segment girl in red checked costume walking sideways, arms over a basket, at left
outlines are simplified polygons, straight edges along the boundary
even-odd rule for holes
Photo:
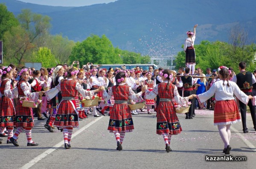
[[[36,102],[38,101],[39,96],[42,96],[44,92],[40,91],[36,93],[31,93],[30,85],[27,82],[29,77],[29,72],[27,68],[20,70],[20,77],[21,78],[17,84],[18,103],[16,107],[16,116],[15,116],[17,130],[13,135],[13,137],[10,138],[10,141],[15,146],[19,146],[19,144],[17,143],[18,136],[23,130],[25,130],[27,141],[28,141],[27,146],[38,146],[38,144],[32,141],[32,138],[31,138],[31,129],[34,127],[34,117],[32,113],[32,108],[23,107],[22,101],[20,100],[20,98],[25,98],[26,100]]]

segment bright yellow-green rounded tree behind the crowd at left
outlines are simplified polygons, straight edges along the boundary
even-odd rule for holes
[[[57,64],[51,50],[46,47],[40,47],[33,55],[33,62],[41,62],[44,68],[52,68]]]

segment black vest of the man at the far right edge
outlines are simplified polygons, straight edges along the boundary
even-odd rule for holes
[[[253,78],[251,72],[240,72],[236,75],[236,79],[236,84],[241,90],[253,88]]]

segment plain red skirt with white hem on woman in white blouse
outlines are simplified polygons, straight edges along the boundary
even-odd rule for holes
[[[214,108],[214,125],[235,124],[241,121],[235,100],[217,101]]]

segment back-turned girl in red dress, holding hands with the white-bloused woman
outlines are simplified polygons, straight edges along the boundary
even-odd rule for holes
[[[177,103],[183,105],[183,102],[188,101],[189,97],[183,98],[179,95],[177,87],[171,83],[173,77],[170,70],[165,69],[162,73],[163,82],[157,84],[153,91],[149,91],[148,86],[145,85],[145,98],[154,99],[157,95],[160,97],[157,106],[157,134],[163,135],[166,152],[170,152],[172,151],[170,148],[171,136],[182,131],[172,100],[175,99]]]

